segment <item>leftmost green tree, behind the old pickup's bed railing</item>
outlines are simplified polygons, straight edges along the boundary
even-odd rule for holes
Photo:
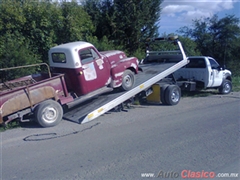
[[[26,23],[22,3],[10,0],[0,3],[0,68],[38,63],[38,55],[31,51],[28,39],[22,36],[22,27]],[[1,79],[9,80],[28,72],[33,72],[33,69],[4,71]]]

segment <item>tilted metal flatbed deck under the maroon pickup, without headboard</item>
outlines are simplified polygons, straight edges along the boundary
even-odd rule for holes
[[[84,105],[81,104],[81,106],[75,107],[74,109],[66,112],[63,118],[79,124],[94,120],[100,115],[110,111],[114,107],[132,98],[141,91],[148,89],[153,84],[185,66],[188,61],[186,56],[183,57],[184,59],[178,63],[140,65],[143,72],[139,72],[139,74],[136,75],[135,86],[131,90],[101,95],[91,101],[88,101]]]

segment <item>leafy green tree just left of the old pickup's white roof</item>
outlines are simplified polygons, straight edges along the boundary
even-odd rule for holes
[[[28,39],[30,48],[47,62],[47,52],[55,43],[57,18],[61,20],[61,14],[56,3],[48,1],[22,1],[22,10],[26,22],[21,28],[21,34]]]

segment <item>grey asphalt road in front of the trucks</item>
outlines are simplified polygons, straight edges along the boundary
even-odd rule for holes
[[[0,134],[0,179],[240,179],[239,135],[240,93],[137,106],[83,125],[27,124]]]

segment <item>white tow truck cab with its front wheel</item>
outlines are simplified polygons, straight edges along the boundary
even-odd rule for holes
[[[232,73],[221,68],[215,59],[207,56],[190,56],[188,60],[189,63],[185,67],[174,72],[177,81],[195,82],[197,89],[217,88],[221,94],[231,92]]]

